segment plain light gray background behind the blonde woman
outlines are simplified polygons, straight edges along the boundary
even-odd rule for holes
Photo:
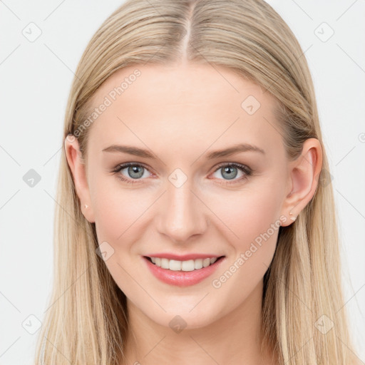
[[[43,320],[53,275],[66,100],[89,39],[122,2],[0,1],[0,365],[32,364],[38,331],[29,331],[36,318]],[[314,78],[340,221],[346,307],[365,364],[365,1],[268,2],[294,31]],[[24,34],[36,35],[36,27],[41,35],[29,41]],[[30,169],[41,177],[34,187],[23,180]]]

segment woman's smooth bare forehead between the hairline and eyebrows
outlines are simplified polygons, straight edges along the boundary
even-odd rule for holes
[[[227,143],[283,148],[274,98],[220,66],[128,66],[113,73],[91,103],[107,105],[90,135],[100,150],[119,142],[145,148],[143,139],[176,151],[187,143],[198,150]]]

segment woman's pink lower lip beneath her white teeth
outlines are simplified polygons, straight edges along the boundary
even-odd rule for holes
[[[202,282],[202,280],[209,277],[218,267],[220,267],[220,264],[225,261],[225,257],[221,257],[220,259],[217,259],[214,264],[210,264],[207,267],[202,267],[202,269],[192,271],[173,271],[170,269],[158,267],[157,265],[153,264],[153,262],[150,262],[150,260],[146,257],[142,258],[147,264],[148,269],[150,269],[150,272],[152,272],[155,277],[160,279],[161,282],[175,285],[177,287],[189,287],[190,285]]]

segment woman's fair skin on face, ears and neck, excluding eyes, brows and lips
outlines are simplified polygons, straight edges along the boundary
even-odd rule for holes
[[[93,106],[135,68],[110,76]],[[259,329],[263,277],[279,230],[219,288],[212,281],[237,267],[240,254],[280,216],[282,226],[293,224],[289,212],[297,216],[312,199],[322,168],[319,140],[307,140],[302,155],[288,161],[274,128],[274,98],[226,68],[184,63],[138,69],[141,76],[89,127],[86,165],[78,140],[65,140],[83,215],[96,223],[99,244],[113,247],[105,263],[128,298],[125,364],[277,364],[272,349],[260,356]],[[252,115],[241,107],[247,96],[261,104]],[[265,154],[205,158],[236,143],[257,145]],[[113,144],[148,149],[157,159],[102,152]],[[146,167],[133,185],[118,179],[133,180],[128,168],[111,173],[128,162]],[[233,168],[230,180],[222,163],[254,172],[240,180],[245,173]],[[177,168],[187,177],[181,187],[168,180]],[[150,274],[142,256],[152,252],[225,255],[225,262],[199,284],[175,287]],[[176,315],[186,322],[180,333],[169,326]]]

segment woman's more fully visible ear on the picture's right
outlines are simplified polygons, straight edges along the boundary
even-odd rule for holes
[[[297,217],[312,200],[322,170],[322,146],[317,138],[309,138],[303,144],[297,160],[289,163],[289,194],[284,200],[283,215],[287,217],[282,226],[291,225],[291,217]],[[292,212],[292,215],[289,213]]]

